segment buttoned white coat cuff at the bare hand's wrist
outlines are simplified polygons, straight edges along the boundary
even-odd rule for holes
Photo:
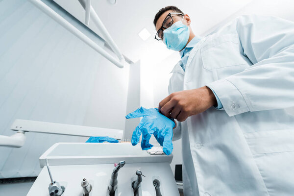
[[[206,86],[218,95],[225,112],[229,116],[250,111],[242,93],[228,80],[220,79]]]

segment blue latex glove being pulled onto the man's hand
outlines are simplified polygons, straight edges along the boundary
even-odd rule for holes
[[[150,149],[153,145],[149,144],[149,140],[153,134],[157,142],[163,147],[164,153],[170,155],[172,153],[172,128],[175,125],[173,120],[159,113],[157,108],[146,109],[141,107],[125,116],[127,119],[139,117],[143,117],[143,119],[133,132],[132,145],[138,144],[142,134],[142,149]]]

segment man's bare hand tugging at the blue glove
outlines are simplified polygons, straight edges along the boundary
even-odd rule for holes
[[[158,110],[168,118],[185,121],[217,104],[213,92],[206,86],[172,93],[160,101]]]

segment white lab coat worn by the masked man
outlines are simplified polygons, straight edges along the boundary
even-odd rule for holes
[[[212,88],[222,110],[177,122],[185,196],[294,196],[294,23],[242,16],[203,38],[169,93]]]

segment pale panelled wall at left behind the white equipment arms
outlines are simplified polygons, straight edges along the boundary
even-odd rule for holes
[[[53,5],[50,0],[44,0]],[[103,42],[62,9],[64,18]],[[0,0],[0,134],[15,119],[124,129],[129,66],[102,58],[27,0]],[[25,146],[0,147],[0,178],[37,176],[56,142],[85,137],[26,133]]]

